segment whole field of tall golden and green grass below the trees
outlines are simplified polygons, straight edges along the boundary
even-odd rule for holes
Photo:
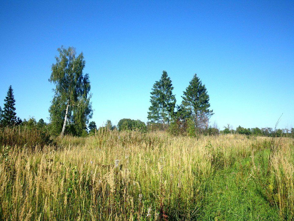
[[[0,220],[293,220],[294,139],[269,161],[270,145],[104,131],[2,146]]]

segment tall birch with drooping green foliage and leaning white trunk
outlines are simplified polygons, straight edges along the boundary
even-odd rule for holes
[[[49,81],[55,84],[55,95],[49,108],[52,130],[61,135],[67,132],[81,135],[86,123],[92,117],[89,75],[83,74],[85,60],[83,53],[76,57],[75,48],[58,48],[59,57],[52,64]]]

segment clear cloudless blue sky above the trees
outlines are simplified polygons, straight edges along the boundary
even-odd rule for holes
[[[2,1],[0,105],[9,85],[17,115],[47,120],[56,49],[83,52],[92,120],[147,122],[166,70],[177,104],[194,73],[222,129],[294,127],[294,1]]]

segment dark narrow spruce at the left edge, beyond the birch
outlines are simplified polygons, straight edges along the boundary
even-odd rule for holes
[[[13,126],[18,123],[18,119],[15,113],[15,100],[13,95],[13,89],[11,85],[8,88],[7,95],[4,99],[4,108],[2,112],[2,126]]]

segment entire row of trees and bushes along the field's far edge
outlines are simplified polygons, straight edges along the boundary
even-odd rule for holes
[[[96,130],[167,130],[174,135],[197,134],[245,134],[256,136],[293,136],[294,129],[251,128],[241,126],[233,130],[230,125],[224,130],[219,130],[216,125],[209,124],[209,118],[213,115],[210,109],[209,95],[205,84],[197,74],[189,82],[183,91],[182,101],[176,106],[174,87],[168,73],[162,72],[158,81],[155,81],[150,92],[150,107],[147,125],[141,120],[123,118],[117,126],[107,120],[105,126],[97,129],[92,118],[93,110],[90,101],[92,94],[89,75],[84,74],[85,59],[83,53],[77,55],[75,48],[58,48],[59,55],[55,57],[55,64],[51,66],[51,75],[48,79],[55,85],[54,96],[49,107],[49,124],[43,119],[29,118],[23,121],[17,117],[13,89],[10,85],[4,99],[3,110],[0,107],[0,126],[27,126],[47,130],[53,136],[88,136],[96,134]]]

